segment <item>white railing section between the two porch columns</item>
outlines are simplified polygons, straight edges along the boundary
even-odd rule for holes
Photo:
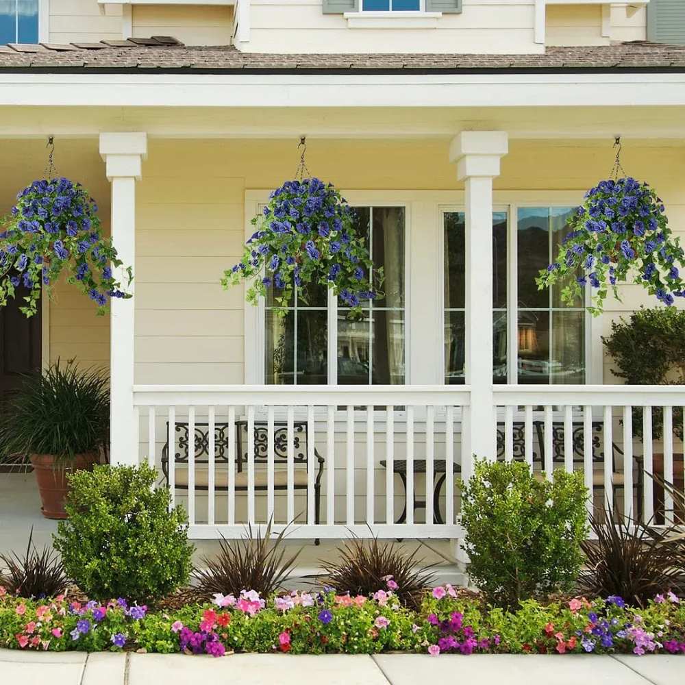
[[[166,464],[194,538],[238,537],[271,519],[300,538],[460,538],[469,396],[444,386],[136,386],[134,406],[140,456]]]

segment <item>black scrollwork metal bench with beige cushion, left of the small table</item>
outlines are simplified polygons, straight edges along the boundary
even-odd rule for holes
[[[243,465],[247,462],[247,421],[236,421],[236,475],[235,490],[247,491],[247,471],[243,471]],[[295,470],[293,475],[293,488],[295,490],[307,490],[308,482],[308,459],[307,459],[307,423],[295,421],[293,424],[293,462]],[[175,423],[177,434],[176,445],[178,451],[174,455],[174,487],[179,490],[188,489],[188,423],[177,421]],[[254,422],[254,463],[266,464],[268,462],[267,438],[268,427],[266,421]],[[169,423],[166,424],[166,443],[162,447],[162,473],[167,486],[169,485]],[[285,422],[274,423],[273,433],[273,457],[274,464],[288,463],[288,427]],[[215,466],[227,466],[228,446],[231,436],[228,434],[228,423],[214,424],[214,464]],[[209,463],[209,424],[195,424],[195,489],[208,490]],[[314,523],[319,523],[321,512],[321,476],[323,475],[323,457],[314,449],[314,457],[318,464],[318,471],[314,479]],[[316,468],[314,464],[314,468]],[[297,468],[297,466],[300,468]],[[199,469],[197,467],[200,467]],[[304,468],[301,468],[301,467]],[[255,469],[254,489],[268,490],[267,475],[265,469]],[[274,490],[288,489],[288,474],[284,469],[276,469],[273,479]],[[214,490],[227,492],[229,478],[227,468],[215,468]]]

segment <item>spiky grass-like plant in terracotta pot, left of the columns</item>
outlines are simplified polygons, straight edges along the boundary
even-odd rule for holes
[[[0,460],[30,462],[47,519],[65,519],[67,475],[92,469],[108,443],[110,399],[97,369],[60,362],[26,375],[0,414]]]

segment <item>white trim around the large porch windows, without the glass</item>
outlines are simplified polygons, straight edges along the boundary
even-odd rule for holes
[[[258,213],[260,203],[269,199],[269,190],[245,191],[245,236],[254,232],[251,219]],[[406,282],[405,282],[405,354],[406,384],[443,384],[445,379],[444,345],[444,281],[443,281],[443,211],[463,211],[462,190],[349,190],[343,191],[351,205],[405,206],[406,207]],[[582,202],[584,190],[499,190],[493,195],[495,211],[506,210],[509,221],[508,283],[516,269],[515,242],[519,207],[573,207]],[[421,229],[425,227],[425,229]],[[427,232],[434,230],[434,241],[425,240]],[[515,238],[515,236],[514,236]],[[423,259],[423,262],[421,261]],[[432,267],[432,268],[431,268]],[[420,292],[419,292],[420,290]],[[586,297],[590,296],[586,289]],[[432,300],[433,306],[430,306]],[[509,349],[517,340],[512,312],[516,310],[516,288],[508,288]],[[419,311],[420,307],[422,311]],[[329,309],[329,312],[331,310]],[[256,307],[245,303],[245,383],[264,382],[264,303]],[[434,322],[425,330],[423,319]],[[586,383],[602,383],[601,319],[586,313]],[[329,336],[329,345],[331,345]],[[329,358],[334,358],[337,349]],[[510,364],[510,369],[512,364]],[[511,378],[510,378],[511,380]],[[516,379],[514,377],[513,382]]]

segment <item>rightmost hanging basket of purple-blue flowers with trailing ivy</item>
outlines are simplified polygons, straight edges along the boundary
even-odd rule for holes
[[[588,190],[568,227],[556,261],[536,278],[540,290],[565,284],[562,301],[572,303],[589,282],[593,293],[588,310],[595,316],[609,290],[620,300],[616,286],[630,279],[667,306],[674,297],[685,296],[677,266],[684,251],[648,184],[630,177],[599,182]]]

